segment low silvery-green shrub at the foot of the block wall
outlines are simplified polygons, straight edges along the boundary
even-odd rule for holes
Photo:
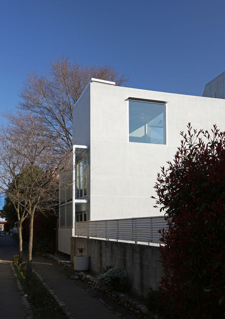
[[[115,266],[105,273],[97,276],[97,278],[110,289],[127,291],[129,286],[127,283],[127,271],[122,267]]]

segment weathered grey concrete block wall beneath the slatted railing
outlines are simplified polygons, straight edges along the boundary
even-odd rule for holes
[[[71,263],[79,255],[77,248],[85,249],[90,256],[90,270],[101,272],[102,267],[122,266],[127,270],[128,282],[133,292],[145,295],[149,287],[158,288],[164,275],[162,264],[158,261],[158,247],[129,244],[117,241],[71,237]]]

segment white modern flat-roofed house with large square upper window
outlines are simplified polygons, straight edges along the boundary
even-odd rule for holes
[[[180,131],[188,122],[225,130],[224,73],[219,77],[206,86],[210,97],[91,79],[73,111],[73,169],[61,174],[60,251],[70,254],[75,222],[162,215],[150,197],[160,167],[180,145]]]

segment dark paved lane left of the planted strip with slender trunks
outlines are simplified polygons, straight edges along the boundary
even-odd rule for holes
[[[0,318],[25,319],[28,314],[11,272],[12,257],[18,255],[18,244],[10,236],[0,236]]]

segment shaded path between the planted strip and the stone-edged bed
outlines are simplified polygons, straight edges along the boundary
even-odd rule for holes
[[[112,310],[106,308],[99,300],[90,294],[60,271],[53,267],[50,261],[33,257],[33,269],[44,279],[47,285],[54,290],[57,297],[66,305],[70,315],[75,319],[116,319]],[[64,306],[62,306],[64,307]]]

